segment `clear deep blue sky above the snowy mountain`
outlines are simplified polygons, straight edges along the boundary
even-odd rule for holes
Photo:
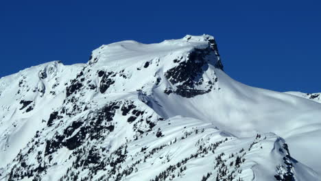
[[[321,1],[1,1],[0,77],[86,62],[119,40],[215,36],[228,75],[250,86],[321,92]]]

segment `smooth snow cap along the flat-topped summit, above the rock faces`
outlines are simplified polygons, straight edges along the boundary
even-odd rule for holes
[[[95,49],[88,64],[97,64],[102,67],[108,64],[109,67],[129,67],[137,64],[137,60],[164,58],[169,56],[172,59],[188,56],[195,50],[206,50],[207,54],[213,53],[212,63],[223,69],[219,58],[217,44],[210,35],[191,36],[175,40],[164,40],[161,43],[143,44],[134,40],[124,40],[118,43],[102,45]],[[166,62],[168,64],[168,62]]]

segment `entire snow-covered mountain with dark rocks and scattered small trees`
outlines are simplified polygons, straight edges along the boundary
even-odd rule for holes
[[[321,180],[303,95],[228,77],[213,36],[103,45],[0,79],[0,180]]]

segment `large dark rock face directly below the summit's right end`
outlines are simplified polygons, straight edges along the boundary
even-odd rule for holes
[[[178,66],[169,69],[165,73],[165,77],[171,84],[176,86],[176,90],[167,88],[165,93],[167,95],[175,93],[182,97],[189,98],[211,92],[214,83],[217,82],[217,78],[209,82],[204,82],[202,75],[209,69],[211,62],[206,59],[206,56],[209,56],[212,52],[213,49],[211,48],[195,49],[189,54],[188,60],[184,62],[174,60],[174,62],[179,62]],[[219,64],[217,66],[219,66]],[[219,66],[219,68],[223,67]],[[199,88],[200,86],[202,86],[202,88]]]

